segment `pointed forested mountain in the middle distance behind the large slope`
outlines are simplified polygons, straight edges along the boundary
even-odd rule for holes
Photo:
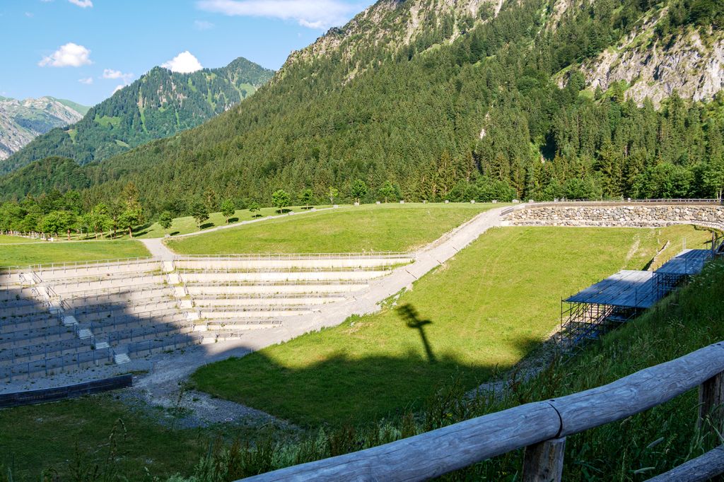
[[[273,74],[242,57],[220,69],[190,74],[154,67],[90,108],[80,122],[33,140],[0,163],[0,172],[49,156],[72,158],[79,164],[101,161],[149,140],[169,137],[231,109]]]

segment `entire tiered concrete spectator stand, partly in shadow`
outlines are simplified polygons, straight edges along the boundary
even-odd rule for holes
[[[186,256],[0,273],[0,381],[121,365],[293,324],[350,300],[405,253]]]

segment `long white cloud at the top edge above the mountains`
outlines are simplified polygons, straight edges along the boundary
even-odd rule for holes
[[[314,29],[342,25],[358,9],[341,0],[199,0],[196,7],[224,15],[295,20]]]

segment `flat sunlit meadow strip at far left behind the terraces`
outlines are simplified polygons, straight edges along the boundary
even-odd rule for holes
[[[0,267],[137,258],[149,255],[143,243],[127,240],[0,244]]]

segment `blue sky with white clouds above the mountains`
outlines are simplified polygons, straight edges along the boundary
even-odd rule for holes
[[[371,0],[1,0],[0,95],[93,105],[156,65],[278,69]]]

